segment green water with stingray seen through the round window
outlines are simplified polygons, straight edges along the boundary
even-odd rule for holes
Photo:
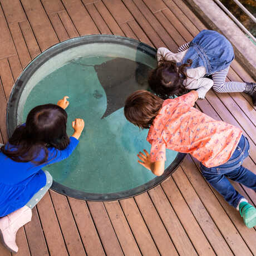
[[[57,183],[87,193],[115,193],[136,188],[155,178],[137,163],[137,153],[150,151],[147,131],[126,121],[124,100],[135,90],[147,89],[151,67],[112,57],[76,58],[48,74],[27,96],[23,121],[35,106],[69,96],[67,133],[71,122],[85,120],[80,143],[60,163],[47,166]],[[177,152],[168,150],[166,167]]]

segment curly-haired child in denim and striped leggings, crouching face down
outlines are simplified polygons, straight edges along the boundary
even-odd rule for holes
[[[200,99],[211,87],[216,92],[245,92],[256,105],[256,83],[225,82],[234,60],[231,43],[216,31],[203,30],[191,42],[180,46],[178,53],[161,47],[158,66],[149,76],[149,85],[162,99],[198,91]],[[211,75],[213,80],[206,76]]]

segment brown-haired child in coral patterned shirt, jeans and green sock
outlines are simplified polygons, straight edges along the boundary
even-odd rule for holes
[[[249,155],[249,142],[238,127],[216,121],[195,109],[197,99],[196,91],[162,100],[144,90],[127,98],[126,119],[141,129],[149,128],[147,141],[151,152],[139,152],[139,163],[159,176],[164,173],[166,148],[190,153],[201,162],[204,178],[240,211],[245,225],[252,228],[256,225],[256,209],[227,179],[256,191],[256,175],[242,166]]]

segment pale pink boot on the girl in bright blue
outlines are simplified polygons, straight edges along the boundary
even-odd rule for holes
[[[18,229],[31,221],[31,218],[32,211],[25,205],[0,219],[0,238],[3,245],[12,253],[18,252],[15,242]]]

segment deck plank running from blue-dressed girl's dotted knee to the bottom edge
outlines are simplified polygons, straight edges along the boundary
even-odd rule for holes
[[[49,192],[37,204],[50,255],[68,255]]]

